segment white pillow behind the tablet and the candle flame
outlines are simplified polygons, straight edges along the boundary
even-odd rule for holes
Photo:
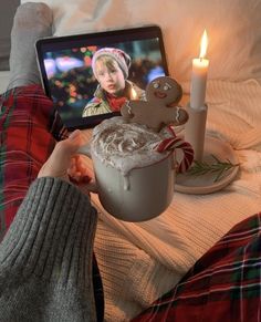
[[[54,12],[55,34],[156,23],[161,27],[170,75],[189,81],[200,38],[209,37],[209,79],[261,79],[260,0],[39,0]],[[27,2],[27,0],[22,0]]]

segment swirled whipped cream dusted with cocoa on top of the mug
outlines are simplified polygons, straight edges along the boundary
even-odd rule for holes
[[[102,163],[126,175],[133,168],[163,159],[166,153],[158,153],[155,147],[169,136],[166,129],[155,133],[146,125],[126,123],[121,116],[112,117],[94,127],[91,150]]]

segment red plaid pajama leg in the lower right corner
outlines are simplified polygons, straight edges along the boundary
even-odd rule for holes
[[[133,322],[261,321],[261,212],[238,224]]]

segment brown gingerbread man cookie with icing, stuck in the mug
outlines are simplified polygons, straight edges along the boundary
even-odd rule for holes
[[[182,89],[174,79],[160,76],[147,85],[147,101],[128,101],[121,114],[127,122],[145,124],[159,132],[166,125],[181,125],[188,121],[187,112],[174,106],[181,96]]]

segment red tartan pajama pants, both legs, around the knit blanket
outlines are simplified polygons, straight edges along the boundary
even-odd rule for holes
[[[40,85],[0,96],[0,240],[55,141],[65,137]],[[93,262],[101,321],[102,282],[95,257]],[[261,214],[234,226],[176,287],[133,319],[139,321],[261,321]]]

